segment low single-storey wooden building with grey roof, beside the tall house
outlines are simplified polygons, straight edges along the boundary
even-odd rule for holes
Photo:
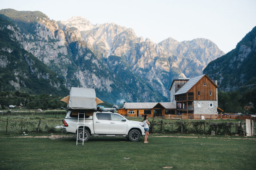
[[[118,113],[128,117],[164,117],[165,115],[176,115],[176,107],[170,102],[160,103],[125,103],[124,108],[118,109]]]

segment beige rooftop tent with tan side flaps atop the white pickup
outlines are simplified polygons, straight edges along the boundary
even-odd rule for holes
[[[103,103],[94,89],[76,87],[71,87],[70,94],[60,101],[67,103],[69,109],[96,109],[97,104]]]

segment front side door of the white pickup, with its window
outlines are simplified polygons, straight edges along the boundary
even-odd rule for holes
[[[126,134],[127,121],[122,116],[110,113],[110,119],[109,134]]]

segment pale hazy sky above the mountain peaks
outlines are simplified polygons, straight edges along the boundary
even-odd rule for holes
[[[159,43],[206,38],[225,53],[256,26],[256,0],[0,0],[1,9],[41,11],[55,21],[82,16],[116,23]]]

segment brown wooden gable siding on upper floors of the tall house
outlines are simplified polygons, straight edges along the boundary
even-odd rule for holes
[[[200,96],[198,96],[198,91],[200,91]],[[212,92],[211,96],[210,91]],[[202,77],[188,93],[194,93],[194,100],[217,100],[216,85],[207,76]]]

